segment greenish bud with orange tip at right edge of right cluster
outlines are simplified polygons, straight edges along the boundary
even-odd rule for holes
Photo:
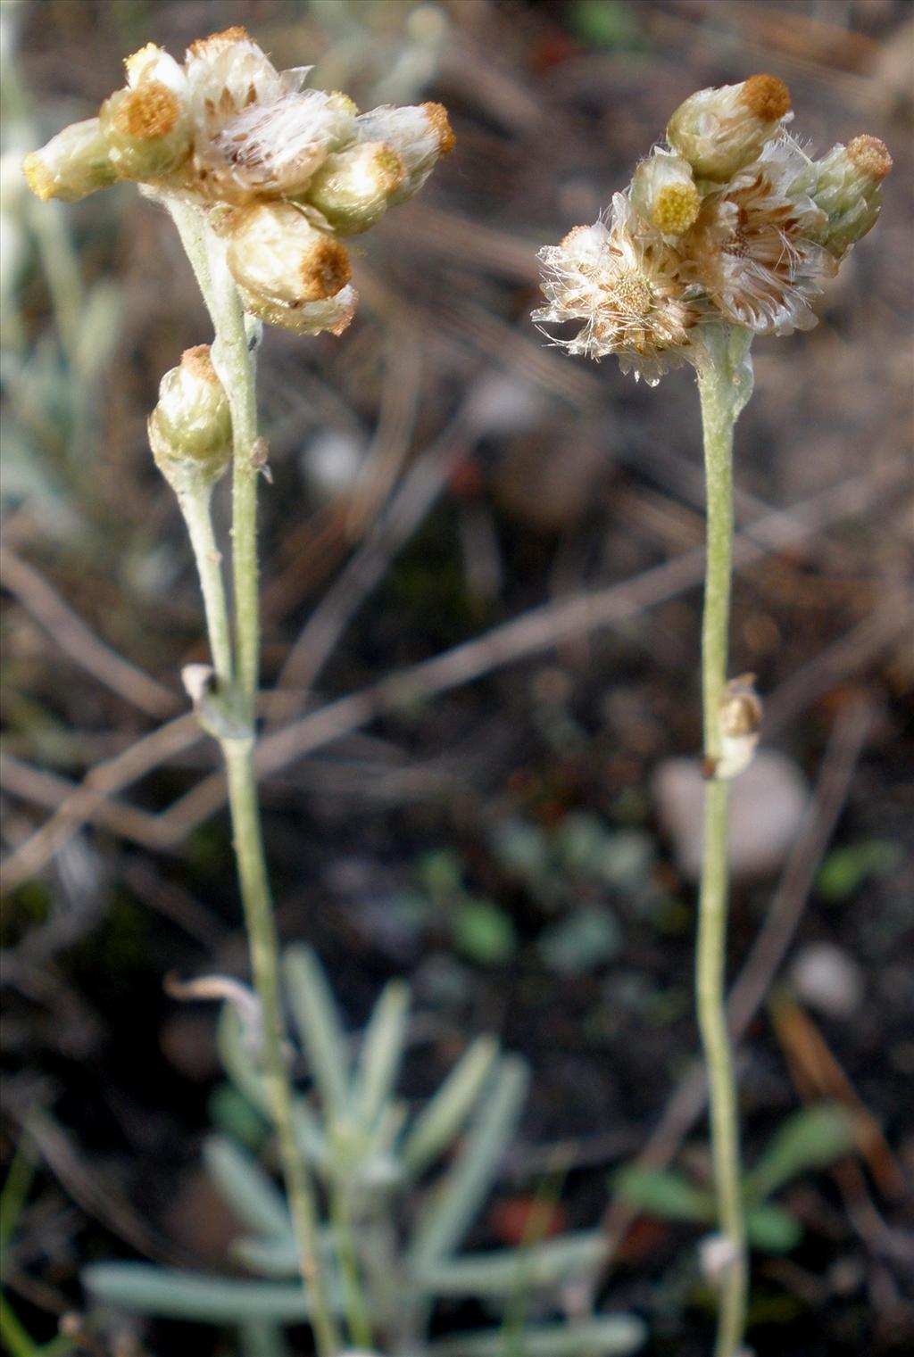
[[[885,142],[861,136],[846,147],[833,147],[790,186],[792,193],[808,193],[827,214],[818,243],[835,259],[842,259],[876,225],[883,206],[883,179],[891,168]]]

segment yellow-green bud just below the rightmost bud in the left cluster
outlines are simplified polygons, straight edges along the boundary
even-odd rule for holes
[[[304,198],[334,231],[354,236],[380,221],[405,179],[395,151],[383,141],[361,141],[327,156]]]

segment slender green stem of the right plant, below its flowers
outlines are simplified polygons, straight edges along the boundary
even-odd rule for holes
[[[716,1357],[735,1357],[746,1323],[747,1248],[739,1153],[733,1053],[724,1003],[728,890],[728,783],[713,775],[721,754],[720,703],[727,683],[733,547],[733,425],[751,394],[748,331],[709,327],[708,357],[698,365],[708,546],[702,619],[705,729],[705,837],[701,873],[695,992],[710,1101],[714,1196],[729,1246],[723,1272]]]

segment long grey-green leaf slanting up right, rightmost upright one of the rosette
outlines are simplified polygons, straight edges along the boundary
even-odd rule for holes
[[[420,1219],[409,1248],[413,1269],[445,1258],[463,1239],[517,1128],[528,1083],[530,1071],[519,1057],[505,1056],[496,1067],[479,1118]]]

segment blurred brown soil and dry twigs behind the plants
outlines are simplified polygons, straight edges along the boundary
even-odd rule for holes
[[[315,84],[361,106],[440,99],[458,137],[421,197],[353,242],[350,330],[266,335],[263,685],[310,696],[265,707],[263,807],[280,930],[318,949],[349,1026],[409,977],[422,1057],[407,1092],[474,1031],[532,1065],[479,1246],[516,1239],[512,1204],[555,1163],[568,1223],[595,1224],[697,1048],[670,764],[699,742],[694,381],[651,391],[545,346],[536,250],[595,220],[687,94],[754,71],[788,81],[818,151],[860,132],[890,145],[877,229],[826,286],[816,330],[756,341],[737,427],[732,670],[758,676],[778,757],[744,794],[731,970],[774,901],[796,915],[775,924],[773,987],[758,957],[752,972],[767,997],[743,1044],[747,1159],[818,1094],[858,1098],[879,1128],[862,1167],[785,1196],[804,1240],[755,1262],[752,1346],[910,1352],[911,5],[23,0],[3,22],[1,786],[18,877],[1,1136],[8,1158],[33,1118],[39,1167],[7,1258],[30,1331],[50,1337],[79,1305],[87,1261],[223,1265],[231,1221],[198,1168],[221,1087],[213,1015],[162,980],[244,974],[246,958],[215,749],[185,722],[143,767],[110,763],[181,715],[179,669],[205,658],[145,442],[160,375],[209,338],[202,304],[160,210],[125,186],[54,213],[15,166],[95,113],[126,53],[179,54],[243,23],[277,66],[314,64]],[[368,696],[335,727],[281,744],[349,693]],[[107,801],[67,801],[111,767]],[[671,1149],[683,1136],[678,1163],[701,1178],[703,1124],[674,1125]],[[634,1223],[607,1280],[614,1307],[648,1319],[651,1353],[708,1348],[695,1239]],[[181,1326],[143,1341],[217,1350]]]

